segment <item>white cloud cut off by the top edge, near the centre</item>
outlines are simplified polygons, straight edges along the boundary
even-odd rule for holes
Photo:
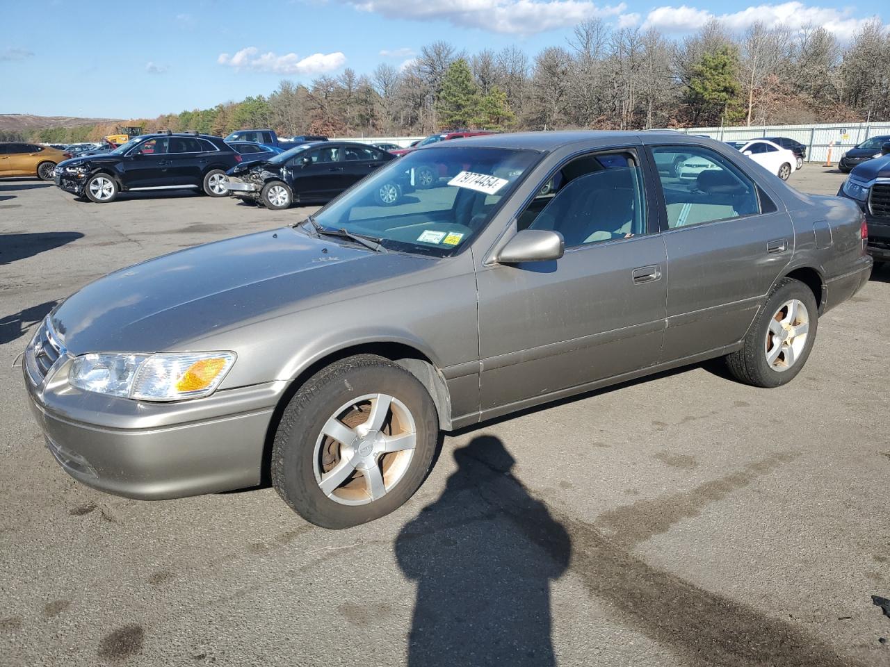
[[[574,26],[582,20],[621,17],[627,4],[599,5],[592,0],[450,0],[406,3],[404,0],[341,0],[361,12],[391,19],[447,20],[462,28],[481,28],[509,35],[532,35]]]

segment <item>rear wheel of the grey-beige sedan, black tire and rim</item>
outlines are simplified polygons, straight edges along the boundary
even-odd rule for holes
[[[793,314],[789,304],[795,301],[797,315],[786,322]],[[781,320],[777,320],[777,316],[781,316]],[[741,350],[726,356],[726,366],[736,380],[755,387],[787,384],[800,373],[809,358],[818,326],[819,313],[813,291],[799,280],[782,278],[770,293],[765,307],[757,313]],[[796,334],[784,338],[789,333]],[[776,347],[779,348],[778,356],[770,361],[769,355],[776,351]]]

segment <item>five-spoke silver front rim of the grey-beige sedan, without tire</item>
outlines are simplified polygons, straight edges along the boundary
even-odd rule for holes
[[[332,501],[374,502],[405,477],[416,446],[408,407],[388,394],[366,394],[337,408],[321,428],[312,458],[315,481]]]

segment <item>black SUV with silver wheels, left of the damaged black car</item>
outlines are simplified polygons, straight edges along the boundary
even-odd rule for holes
[[[162,189],[225,197],[225,173],[240,161],[238,151],[219,137],[165,132],[134,137],[109,153],[65,160],[53,175],[61,189],[96,203],[113,201],[119,192]]]

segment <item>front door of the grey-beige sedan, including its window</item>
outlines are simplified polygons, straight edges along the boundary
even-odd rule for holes
[[[658,361],[667,253],[634,149],[577,157],[517,214],[565,238],[556,261],[476,258],[481,414],[580,390]]]

